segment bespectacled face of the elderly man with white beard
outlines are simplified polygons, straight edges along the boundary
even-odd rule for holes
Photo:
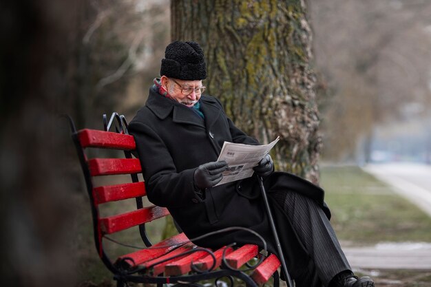
[[[167,83],[167,91],[171,98],[177,100],[178,103],[187,105],[187,107],[193,107],[198,103],[204,89],[202,80],[182,81],[176,78],[167,78],[165,83]]]

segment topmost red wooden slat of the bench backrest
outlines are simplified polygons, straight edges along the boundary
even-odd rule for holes
[[[78,139],[82,147],[101,147],[105,149],[136,149],[133,136],[118,134],[111,131],[98,131],[96,129],[81,129]]]

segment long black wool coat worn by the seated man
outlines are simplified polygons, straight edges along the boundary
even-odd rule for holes
[[[276,253],[255,176],[206,189],[202,195],[194,190],[194,171],[200,164],[217,160],[224,141],[259,145],[255,138],[233,125],[215,98],[202,95],[200,108],[204,119],[193,109],[160,96],[157,89],[151,87],[147,103],[129,123],[149,200],[167,207],[190,239],[221,228],[242,226],[260,233],[268,242],[269,250]],[[269,194],[275,191],[299,192],[313,198],[330,217],[324,204],[324,191],[311,182],[290,173],[273,172],[265,178],[264,185]],[[280,202],[275,202],[271,196],[269,201],[280,229],[282,246],[284,249],[295,248],[293,231]],[[195,241],[210,248],[232,242],[262,246],[255,235],[244,231]]]

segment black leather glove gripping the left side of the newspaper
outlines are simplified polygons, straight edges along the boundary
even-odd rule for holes
[[[220,162],[207,162],[201,164],[193,175],[195,186],[198,189],[207,189],[213,187],[222,180],[222,172],[229,169],[227,162],[224,160]]]

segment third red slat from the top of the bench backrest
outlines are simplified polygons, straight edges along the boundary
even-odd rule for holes
[[[95,204],[147,195],[144,182],[107,185],[93,189]]]

